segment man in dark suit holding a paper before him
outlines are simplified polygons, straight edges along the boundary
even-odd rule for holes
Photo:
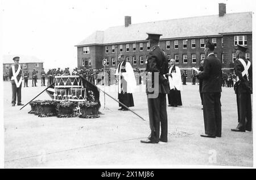
[[[201,137],[221,137],[221,61],[214,56],[214,44],[207,41],[204,46],[204,71],[199,72],[203,79],[203,112],[205,134]]]

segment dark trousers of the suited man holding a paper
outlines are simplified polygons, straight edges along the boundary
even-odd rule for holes
[[[207,135],[221,136],[221,93],[203,93],[204,129]]]

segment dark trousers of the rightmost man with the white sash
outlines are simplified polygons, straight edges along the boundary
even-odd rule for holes
[[[237,93],[237,129],[251,131],[251,94]]]

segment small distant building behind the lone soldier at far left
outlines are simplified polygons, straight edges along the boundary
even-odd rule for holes
[[[13,57],[19,56],[19,64],[22,66],[23,72],[27,70],[29,73],[29,79],[32,79],[32,72],[36,69],[36,73],[38,73],[38,79],[41,79],[41,72],[43,68],[43,61],[39,60],[34,56],[24,56],[24,55],[4,55],[3,62],[3,74],[9,74],[9,69],[11,65],[14,64]]]

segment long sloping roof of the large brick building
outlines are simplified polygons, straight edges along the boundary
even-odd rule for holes
[[[209,15],[161,20],[130,24],[128,27],[124,25],[110,27],[105,31],[94,32],[76,46],[143,41],[147,38],[146,32],[163,34],[160,40],[252,32],[252,12],[225,14],[221,17],[219,15]]]

